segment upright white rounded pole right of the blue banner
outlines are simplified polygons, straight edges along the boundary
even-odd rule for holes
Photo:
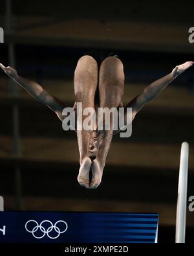
[[[180,151],[180,168],[178,177],[178,198],[177,198],[177,217],[176,217],[176,243],[185,242],[186,229],[186,206],[188,189],[188,159],[189,145],[183,142]]]

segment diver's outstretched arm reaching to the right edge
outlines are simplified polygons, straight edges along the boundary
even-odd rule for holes
[[[149,86],[147,86],[144,91],[140,93],[140,95],[131,100],[131,102],[127,104],[127,107],[132,108],[133,118],[135,117],[136,113],[141,110],[144,104],[155,99],[155,97],[158,96],[168,84],[170,84],[178,75],[186,71],[186,69],[191,67],[193,64],[194,62],[190,61],[177,65],[171,73],[149,84]]]

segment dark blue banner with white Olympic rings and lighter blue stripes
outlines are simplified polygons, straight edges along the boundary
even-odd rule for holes
[[[0,242],[155,243],[158,213],[0,212]]]

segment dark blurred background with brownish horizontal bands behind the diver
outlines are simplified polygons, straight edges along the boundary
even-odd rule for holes
[[[188,41],[193,7],[191,1],[16,0],[9,16],[1,1],[0,62],[73,106],[78,58],[89,49],[116,51],[124,63],[127,103],[175,65],[194,60],[194,43]],[[158,212],[158,242],[174,242],[182,141],[189,143],[188,197],[194,193],[193,92],[191,67],[138,113],[131,137],[114,137],[103,182],[90,191],[76,180],[76,134],[63,131],[52,111],[1,71],[5,210]],[[187,212],[186,242],[193,240],[193,216]]]

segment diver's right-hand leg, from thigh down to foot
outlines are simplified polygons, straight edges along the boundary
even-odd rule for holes
[[[124,66],[119,58],[110,56],[103,60],[99,72],[99,93],[101,108],[122,106],[124,94]],[[92,161],[93,178],[91,189],[96,189],[102,180],[105,160],[113,137],[113,116],[110,118],[110,130],[98,131],[98,153]],[[104,126],[103,126],[104,127]]]

